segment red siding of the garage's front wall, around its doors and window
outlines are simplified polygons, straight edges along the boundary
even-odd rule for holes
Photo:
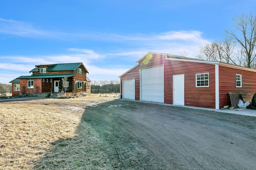
[[[146,62],[145,62],[146,61]],[[173,80],[175,74],[184,74],[185,105],[215,108],[215,65],[184,61],[166,60],[164,55],[153,55],[140,61],[139,66],[121,77],[122,80],[135,78],[135,100],[140,100],[140,68],[164,64],[164,103],[173,104]],[[209,87],[196,88],[196,74],[209,72]],[[154,80],[152,80],[154,83]]]

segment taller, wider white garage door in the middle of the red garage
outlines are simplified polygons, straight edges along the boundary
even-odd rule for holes
[[[140,100],[164,103],[164,66],[140,70]]]

